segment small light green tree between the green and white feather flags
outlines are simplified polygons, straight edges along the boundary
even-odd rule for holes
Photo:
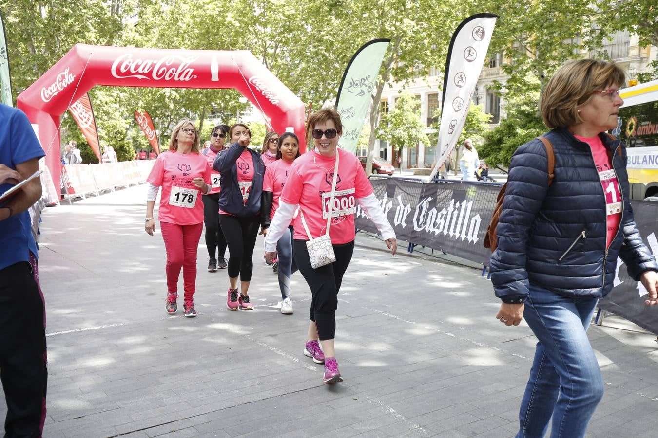
[[[390,142],[393,148],[401,149],[418,142],[429,144],[430,140],[424,131],[425,125],[420,119],[420,102],[411,93],[404,92],[395,102],[395,108],[382,116],[378,137]]]

